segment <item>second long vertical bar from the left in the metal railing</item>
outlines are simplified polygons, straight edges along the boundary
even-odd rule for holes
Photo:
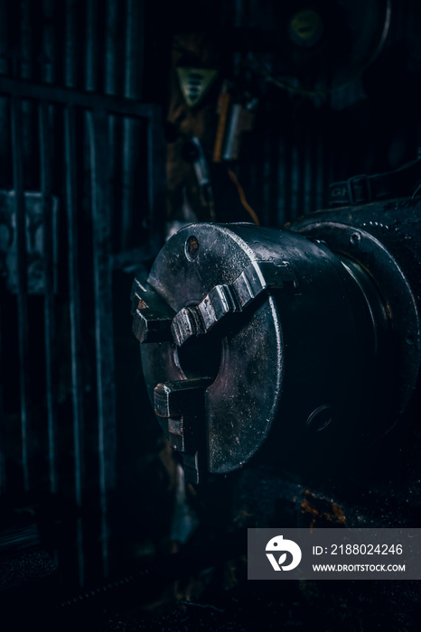
[[[38,109],[40,128],[40,166],[42,191],[43,256],[44,256],[44,323],[46,395],[48,414],[48,442],[50,489],[55,494],[58,489],[57,469],[57,352],[56,322],[54,304],[54,244],[51,200],[51,130],[48,105],[42,101]]]

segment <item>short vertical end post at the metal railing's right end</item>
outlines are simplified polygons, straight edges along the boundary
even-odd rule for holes
[[[147,173],[148,173],[148,228],[151,254],[158,254],[164,244],[166,195],[166,144],[161,110],[154,107],[148,120]]]

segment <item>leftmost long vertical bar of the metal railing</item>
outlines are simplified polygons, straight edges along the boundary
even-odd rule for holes
[[[33,441],[29,392],[29,328],[26,268],[26,226],[23,197],[23,130],[22,102],[11,98],[12,162],[14,174],[14,217],[17,239],[17,310],[19,329],[19,381],[21,389],[23,488],[33,486]]]

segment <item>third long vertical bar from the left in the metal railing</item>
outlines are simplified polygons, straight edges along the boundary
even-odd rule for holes
[[[66,206],[67,235],[69,254],[69,300],[70,300],[70,346],[71,346],[71,384],[73,404],[73,441],[75,453],[75,499],[79,507],[83,500],[84,460],[83,460],[83,383],[82,383],[82,344],[80,316],[80,274],[77,181],[76,181],[76,125],[72,107],[64,110],[64,148],[66,164]],[[78,558],[80,585],[84,581],[83,537],[81,520],[78,521]]]

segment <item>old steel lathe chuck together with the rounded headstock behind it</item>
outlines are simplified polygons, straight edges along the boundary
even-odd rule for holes
[[[253,463],[329,471],[405,426],[420,364],[418,228],[407,200],[285,230],[192,224],[166,243],[133,285],[134,332],[187,479]]]

